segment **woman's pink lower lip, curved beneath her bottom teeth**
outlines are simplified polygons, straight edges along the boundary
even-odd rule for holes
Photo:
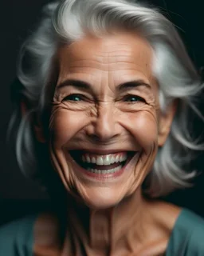
[[[128,163],[134,157],[135,157],[135,155],[133,157],[129,158],[128,161],[126,162],[125,166],[123,166],[120,170],[117,170],[116,172],[114,172],[112,174],[95,174],[95,173],[92,173],[91,171],[85,170],[84,168],[79,166],[77,164],[77,162],[75,162],[74,160],[73,160],[73,162],[75,163],[75,165],[77,165],[76,169],[79,170],[80,173],[88,176],[89,178],[93,178],[93,179],[98,180],[98,181],[103,181],[103,180],[106,180],[106,179],[114,179],[114,178],[120,177],[124,173],[124,170],[127,168]]]

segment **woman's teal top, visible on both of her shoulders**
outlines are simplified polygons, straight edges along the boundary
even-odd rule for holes
[[[0,228],[0,256],[33,256],[33,226],[37,215]],[[183,209],[175,222],[166,256],[203,256],[204,219]]]

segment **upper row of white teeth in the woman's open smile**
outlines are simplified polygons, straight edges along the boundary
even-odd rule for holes
[[[90,154],[83,154],[82,161],[96,163],[98,166],[108,166],[115,162],[124,162],[128,158],[127,154],[103,154],[92,156]]]

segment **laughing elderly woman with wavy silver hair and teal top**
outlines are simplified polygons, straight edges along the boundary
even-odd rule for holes
[[[203,85],[167,18],[122,0],[49,4],[18,79],[18,164],[53,212],[3,226],[1,256],[204,255],[202,218],[156,199],[190,186],[202,150],[189,119]]]

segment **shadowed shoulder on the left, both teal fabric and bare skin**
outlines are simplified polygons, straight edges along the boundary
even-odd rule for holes
[[[0,226],[0,256],[31,256],[44,248],[57,250],[60,226],[53,213],[33,214]]]

